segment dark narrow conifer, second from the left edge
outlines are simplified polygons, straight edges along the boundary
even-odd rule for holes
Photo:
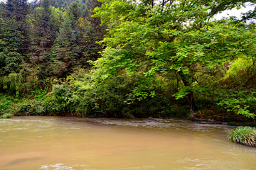
[[[40,79],[45,79],[47,76],[47,67],[50,60],[50,49],[53,47],[55,40],[55,23],[52,22],[51,16],[51,1],[41,1],[41,7],[34,9],[29,20],[31,46],[28,54],[31,64],[38,66],[40,72],[37,76]]]

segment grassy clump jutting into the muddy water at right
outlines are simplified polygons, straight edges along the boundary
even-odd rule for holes
[[[256,147],[256,129],[248,126],[240,126],[228,133],[228,140],[242,145]]]

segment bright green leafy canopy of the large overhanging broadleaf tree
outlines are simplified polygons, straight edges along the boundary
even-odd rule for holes
[[[137,100],[154,96],[155,90],[163,86],[161,82],[155,84],[156,77],[176,73],[183,85],[177,88],[174,96],[176,99],[187,96],[189,106],[196,110],[193,94],[215,91],[210,86],[213,80],[207,83],[204,79],[198,81],[198,73],[203,69],[213,72],[216,65],[243,55],[254,57],[253,26],[212,19],[215,13],[239,8],[245,1],[223,1],[220,6],[215,1],[175,1],[171,4],[122,0],[101,2],[102,6],[95,8],[95,16],[110,29],[101,42],[105,45],[103,57],[93,62],[96,67],[93,76],[107,82],[123,70],[127,77],[143,73],[147,81],[140,79],[139,86],[129,93]],[[219,104],[226,105],[230,111],[253,117],[245,103],[255,101],[255,97],[250,91],[245,93],[247,95],[238,92],[235,100],[221,98]]]

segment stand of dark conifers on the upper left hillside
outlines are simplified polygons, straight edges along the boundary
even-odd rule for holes
[[[43,84],[48,77],[65,78],[74,69],[87,68],[87,60],[99,57],[100,45],[92,37],[100,40],[102,34],[92,31],[90,16],[82,17],[81,2],[74,1],[66,9],[55,8],[51,3],[34,1],[33,10],[27,0],[1,4],[1,90],[9,90],[14,84],[10,75],[19,77],[24,84],[28,79]],[[96,46],[93,50],[88,49],[93,45]],[[18,85],[14,93],[16,90],[25,92]]]

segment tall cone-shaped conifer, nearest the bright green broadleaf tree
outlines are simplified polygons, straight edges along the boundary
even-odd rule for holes
[[[82,49],[79,46],[80,30],[78,30],[78,20],[81,17],[81,11],[77,2],[70,4],[65,19],[60,28],[60,34],[56,39],[54,50],[57,55],[52,53],[52,72],[58,77],[65,77],[72,69],[78,65],[82,56]]]

